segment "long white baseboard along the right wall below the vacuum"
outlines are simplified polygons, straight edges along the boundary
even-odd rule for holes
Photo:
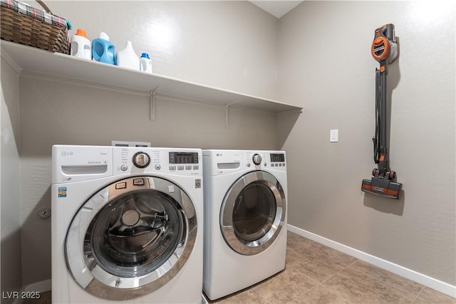
[[[451,297],[456,298],[456,286],[439,281],[435,278],[431,278],[430,276],[426,276],[422,273],[418,273],[416,271],[405,268],[398,264],[385,261],[382,258],[377,258],[376,256],[372,256],[369,253],[359,251],[358,249],[348,247],[348,246],[338,243],[336,241],[331,241],[330,239],[326,239],[323,236],[318,236],[317,234],[313,234],[304,229],[300,229],[298,227],[291,226],[290,224],[288,224],[288,230],[291,232],[294,232],[295,234],[299,234],[300,236],[304,236],[307,239],[311,239],[312,241],[316,241],[317,243],[321,243],[325,246],[336,249],[337,251],[346,253],[349,256],[358,258],[361,261],[371,263],[379,268],[385,269],[386,271],[395,273],[398,276],[408,278],[409,280],[415,281],[415,282],[425,285],[429,288],[440,291],[440,293],[445,293],[446,295],[450,295]]]

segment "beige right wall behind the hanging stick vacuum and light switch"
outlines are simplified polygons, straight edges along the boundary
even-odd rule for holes
[[[304,107],[281,135],[289,224],[455,285],[455,4],[427,3],[304,1],[280,19],[279,100]],[[384,23],[400,39],[388,75],[398,201],[361,192],[375,167],[370,48]]]

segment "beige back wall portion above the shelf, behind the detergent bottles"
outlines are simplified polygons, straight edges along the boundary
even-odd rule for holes
[[[88,38],[130,40],[154,73],[276,98],[278,20],[248,1],[52,1]]]

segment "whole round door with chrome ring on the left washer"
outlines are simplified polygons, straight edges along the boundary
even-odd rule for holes
[[[100,298],[135,298],[179,272],[196,230],[193,204],[176,184],[123,179],[88,199],[73,218],[66,237],[68,268]]]

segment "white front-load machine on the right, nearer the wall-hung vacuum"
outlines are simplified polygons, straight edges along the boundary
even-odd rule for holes
[[[203,150],[203,290],[211,300],[285,268],[284,151]]]

